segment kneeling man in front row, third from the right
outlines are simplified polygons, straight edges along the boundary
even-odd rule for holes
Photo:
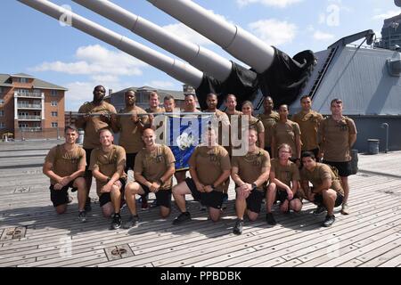
[[[270,173],[269,153],[257,146],[258,131],[250,128],[248,134],[249,149],[244,156],[232,158],[231,177],[235,182],[237,199],[235,210],[237,221],[233,227],[234,234],[242,233],[243,216],[248,209],[250,221],[255,221],[260,213],[265,196],[266,183]]]

